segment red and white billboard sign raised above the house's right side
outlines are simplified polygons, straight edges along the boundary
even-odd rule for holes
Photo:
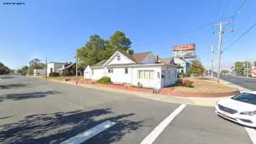
[[[178,58],[195,58],[195,44],[174,46],[173,56]]]

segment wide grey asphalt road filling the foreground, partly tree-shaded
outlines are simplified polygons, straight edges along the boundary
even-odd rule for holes
[[[139,99],[33,77],[0,80],[0,143],[61,143],[105,121],[116,124],[85,143],[140,143],[178,104]],[[243,126],[187,105],[154,143],[252,143]]]

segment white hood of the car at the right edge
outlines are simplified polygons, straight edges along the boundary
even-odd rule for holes
[[[238,110],[238,112],[244,111],[255,111],[256,105],[248,104],[246,102],[239,102],[234,99],[222,99],[218,102],[218,105],[222,105],[224,107],[232,108],[233,110]]]

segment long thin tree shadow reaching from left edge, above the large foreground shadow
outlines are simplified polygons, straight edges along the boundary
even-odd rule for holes
[[[4,101],[4,99],[11,99],[11,100],[36,99],[36,98],[42,98],[51,94],[60,94],[60,92],[59,91],[39,91],[39,92],[25,93],[25,94],[3,94],[3,95],[0,95],[0,102]]]

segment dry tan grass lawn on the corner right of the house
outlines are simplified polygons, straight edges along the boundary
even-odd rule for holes
[[[173,92],[211,94],[238,91],[237,88],[225,86],[221,83],[217,83],[211,79],[204,77],[189,77],[182,79],[191,81],[192,88],[187,88],[183,86],[172,86],[171,88],[173,88]]]

